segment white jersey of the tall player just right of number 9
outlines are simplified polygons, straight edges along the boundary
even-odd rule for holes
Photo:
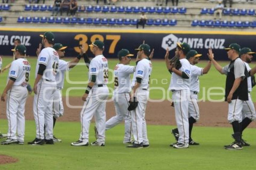
[[[55,81],[55,76],[58,71],[59,55],[52,47],[44,48],[40,52],[36,63],[36,76],[38,73],[39,64],[46,65],[42,79]]]

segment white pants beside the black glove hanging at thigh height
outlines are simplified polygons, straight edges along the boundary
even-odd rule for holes
[[[131,111],[132,132],[135,144],[149,144],[147,135],[147,125],[145,120],[145,110],[148,103],[149,91],[138,89],[136,92],[138,106]]]

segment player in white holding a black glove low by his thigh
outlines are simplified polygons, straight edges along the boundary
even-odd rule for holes
[[[136,77],[136,83],[133,87],[128,107],[128,111],[131,111],[134,143],[127,147],[142,148],[149,147],[145,109],[149,97],[149,78],[152,72],[152,64],[148,59],[150,55],[150,46],[148,44],[141,44],[135,50],[138,51],[137,58],[139,62],[133,75],[133,77]]]

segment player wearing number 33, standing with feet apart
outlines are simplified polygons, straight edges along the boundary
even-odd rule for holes
[[[108,60],[102,55],[105,46],[102,41],[96,40],[89,45],[95,57],[89,65],[89,83],[82,99],[84,102],[81,111],[82,131],[80,138],[72,142],[72,146],[88,146],[89,127],[92,117],[95,116],[98,138],[92,142],[92,146],[105,146],[106,127],[106,100],[108,98]]]

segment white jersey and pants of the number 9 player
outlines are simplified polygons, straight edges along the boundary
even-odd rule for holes
[[[24,142],[25,104],[27,100],[27,83],[30,75],[30,63],[19,58],[11,63],[7,82],[15,78],[15,82],[7,93],[6,115],[8,119],[8,138]],[[17,132],[17,136],[16,136]]]

